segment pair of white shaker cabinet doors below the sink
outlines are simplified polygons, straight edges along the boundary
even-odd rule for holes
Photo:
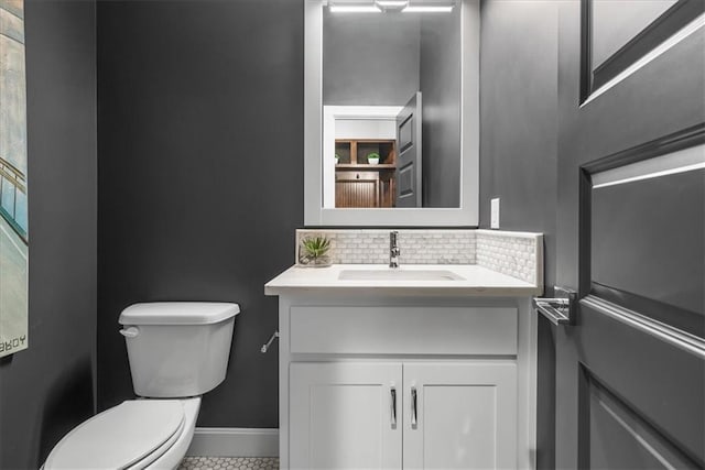
[[[517,462],[514,361],[294,362],[294,469],[491,469]]]

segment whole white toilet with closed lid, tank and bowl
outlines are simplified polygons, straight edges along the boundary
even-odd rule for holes
[[[54,447],[45,470],[174,469],[200,395],[225,380],[237,304],[135,304],[120,315],[135,400],[106,409]]]

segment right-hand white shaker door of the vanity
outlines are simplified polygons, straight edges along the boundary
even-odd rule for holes
[[[404,470],[517,466],[513,361],[404,363]]]

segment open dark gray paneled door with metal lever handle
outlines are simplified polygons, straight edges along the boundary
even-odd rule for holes
[[[697,1],[646,20],[654,2],[560,7],[556,278],[579,298],[573,325],[555,327],[560,469],[705,466]],[[634,34],[606,44],[607,20]],[[614,53],[595,64],[598,50]]]

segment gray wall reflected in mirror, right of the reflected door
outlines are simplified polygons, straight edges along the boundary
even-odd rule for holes
[[[423,207],[460,206],[460,9],[421,20]]]

